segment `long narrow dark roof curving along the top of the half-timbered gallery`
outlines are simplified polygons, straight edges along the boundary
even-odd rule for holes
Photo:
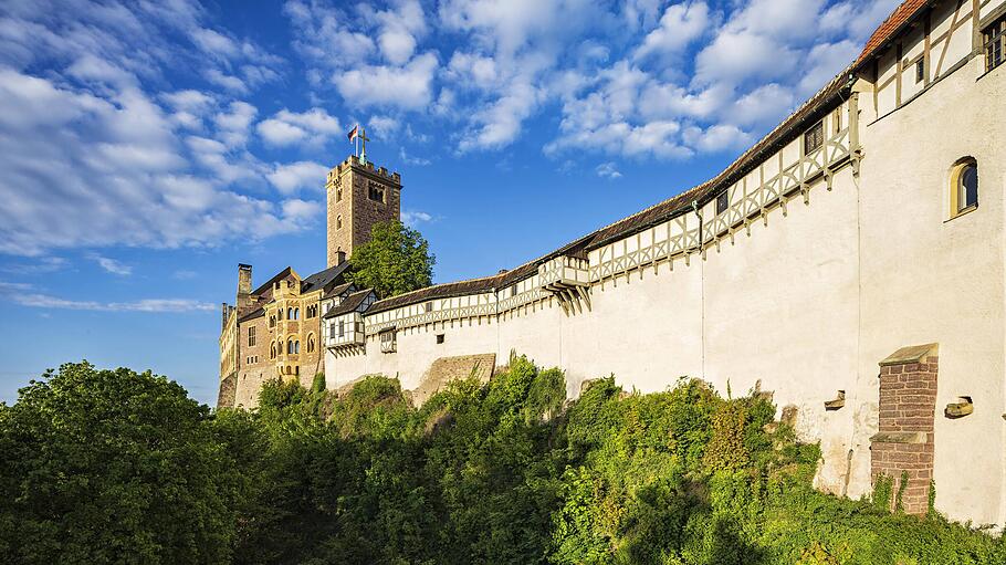
[[[835,109],[843,100],[848,98],[850,86],[849,79],[852,69],[852,66],[849,66],[839,73],[831,82],[821,88],[820,92],[815,94],[803,106],[797,108],[796,112],[790,114],[782,124],[763,137],[753,147],[744,151],[741,157],[714,178],[685,190],[678,196],[651,206],[646,210],[618,220],[610,226],[606,226],[547,255],[524,263],[516,269],[502,271],[499,274],[481,279],[436,284],[418,291],[399,294],[398,296],[391,296],[375,302],[367,312],[384,312],[406,304],[416,304],[428,300],[447,299],[504,289],[522,279],[531,276],[537,271],[539,264],[558,255],[586,257],[588,250],[601,247],[617,239],[632,236],[649,229],[652,226],[668,221],[671,218],[681,216],[682,213],[688,213],[692,210],[692,201],[698,201],[700,206],[709,202],[715,198],[719,192],[726,190],[731,185],[743,178],[744,175],[754,170],[766,157],[803,135],[808,127],[821,119],[828,112]]]

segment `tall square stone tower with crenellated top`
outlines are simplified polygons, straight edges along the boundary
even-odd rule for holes
[[[398,220],[401,176],[350,156],[328,171],[328,266],[353,255],[375,223]]]

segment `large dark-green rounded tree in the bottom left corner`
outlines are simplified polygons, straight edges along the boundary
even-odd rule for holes
[[[85,362],[33,380],[0,404],[3,561],[230,561],[241,482],[222,436],[241,426],[212,419],[149,372]]]

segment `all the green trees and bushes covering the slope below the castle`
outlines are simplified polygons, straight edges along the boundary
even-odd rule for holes
[[[564,406],[564,387],[559,370],[515,357],[418,409],[396,379],[336,398],[316,378],[268,384],[256,414],[212,416],[163,378],[64,366],[0,406],[0,452],[15,456],[0,463],[14,501],[0,506],[0,551],[24,563],[1006,563],[996,537],[811,489],[817,448],[764,431],[775,409],[763,399],[724,400],[699,380],[627,394],[608,378]]]

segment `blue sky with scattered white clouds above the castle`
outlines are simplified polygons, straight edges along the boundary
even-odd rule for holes
[[[699,184],[841,71],[894,0],[0,6],[0,400],[86,358],[212,404],[219,303],[325,262],[368,128],[444,282]]]

